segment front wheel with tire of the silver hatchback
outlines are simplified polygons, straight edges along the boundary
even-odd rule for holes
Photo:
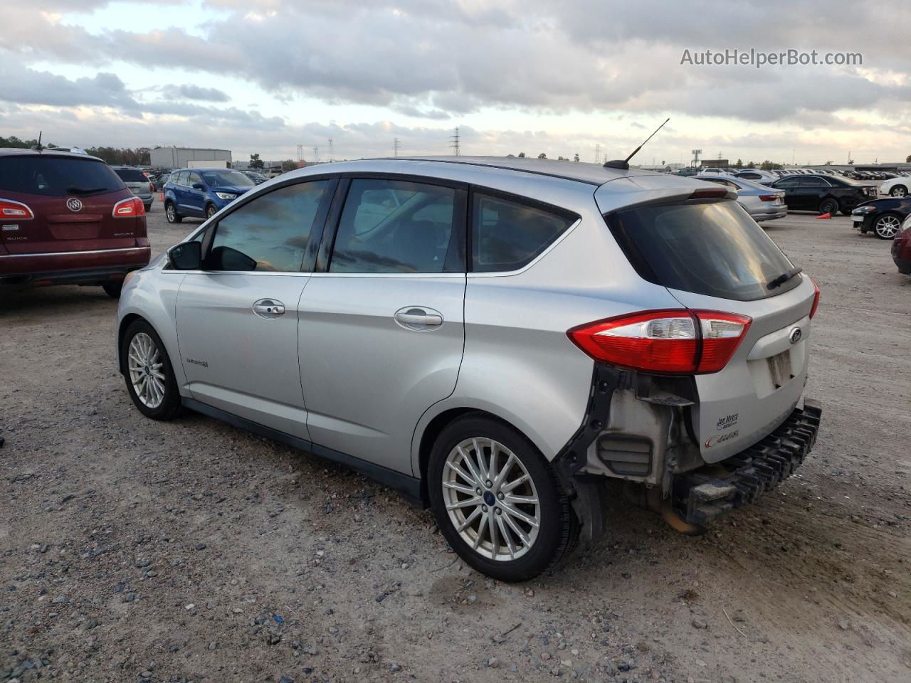
[[[153,420],[170,420],[180,410],[180,392],[168,352],[158,333],[144,320],[130,323],[120,346],[127,369],[127,392],[139,412]]]

